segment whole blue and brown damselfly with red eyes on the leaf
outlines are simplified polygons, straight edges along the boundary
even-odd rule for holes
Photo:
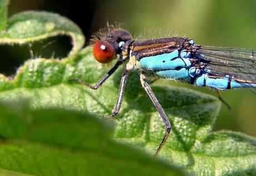
[[[215,90],[256,88],[256,60],[252,49],[202,46],[195,44],[192,39],[180,37],[136,41],[124,29],[113,29],[106,35],[97,36],[93,45],[95,59],[100,63],[110,63],[116,55],[119,55],[119,59],[115,66],[95,85],[89,85],[81,79],[71,81],[78,81],[90,89],[98,89],[120,65],[126,64],[116,106],[107,117],[112,118],[120,111],[128,72],[139,70],[142,87],[155,105],[166,128],[166,134],[155,155],[164,146],[171,125],[147,83],[149,76],[185,81]]]

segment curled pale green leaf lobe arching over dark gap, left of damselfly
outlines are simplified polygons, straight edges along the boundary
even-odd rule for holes
[[[71,37],[73,48],[70,54],[77,53],[85,43],[81,29],[71,20],[55,13],[27,11],[8,20],[4,35],[0,35],[0,44],[31,43],[56,35]]]

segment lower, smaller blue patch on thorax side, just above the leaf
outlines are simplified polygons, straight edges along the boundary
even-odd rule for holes
[[[189,80],[189,73],[188,70],[186,70],[185,68],[182,68],[180,70],[157,71],[155,74],[164,79]]]

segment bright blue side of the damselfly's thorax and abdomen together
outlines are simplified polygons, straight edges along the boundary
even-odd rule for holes
[[[143,71],[152,71],[154,75],[164,79],[183,80],[190,84],[213,87],[218,90],[256,87],[256,84],[235,81],[230,75],[214,76],[210,74],[212,70],[200,67],[200,64],[204,63],[198,63],[198,66],[195,66],[191,64],[191,59],[196,60],[190,52],[186,50],[179,52],[176,49],[171,53],[141,58],[140,68]]]

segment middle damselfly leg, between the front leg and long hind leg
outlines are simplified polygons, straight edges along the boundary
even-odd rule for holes
[[[115,117],[119,113],[121,104],[122,104],[122,99],[124,98],[127,77],[128,77],[128,71],[125,70],[124,73],[122,74],[122,79],[121,79],[121,83],[120,83],[120,87],[119,87],[119,94],[118,94],[118,99],[116,102],[116,107],[114,108],[114,111],[112,112],[112,114],[107,116],[106,118]]]

